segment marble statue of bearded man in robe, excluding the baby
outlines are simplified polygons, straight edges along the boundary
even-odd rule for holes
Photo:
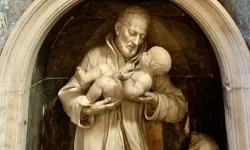
[[[107,64],[115,74],[139,68],[150,23],[147,10],[126,8],[115,24],[115,33],[106,36],[104,45],[89,50],[80,68],[88,72]],[[145,120],[177,123],[186,113],[184,96],[167,74],[153,76],[150,92],[130,100],[90,102],[86,93],[91,85],[81,85],[74,75],[58,93],[65,112],[77,125],[75,150],[147,150]]]

